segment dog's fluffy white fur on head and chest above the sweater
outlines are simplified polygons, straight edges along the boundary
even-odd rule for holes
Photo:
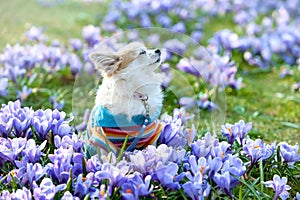
[[[126,56],[134,59],[120,68]],[[96,105],[105,106],[115,115],[127,115],[128,119],[134,115],[145,115],[143,102],[134,97],[137,92],[148,96],[150,118],[156,114],[163,100],[162,76],[155,72],[161,60],[158,50],[149,50],[142,45],[128,45],[116,53],[94,52],[90,58],[103,75]]]

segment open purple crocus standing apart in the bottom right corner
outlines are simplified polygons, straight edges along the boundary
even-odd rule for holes
[[[287,183],[287,178],[286,177],[280,178],[277,174],[274,175],[273,181],[264,182],[266,187],[273,188],[273,190],[275,191],[273,200],[276,200],[278,197],[280,197],[283,200],[289,198],[290,195],[288,193],[288,190],[290,190],[291,187],[286,183]]]

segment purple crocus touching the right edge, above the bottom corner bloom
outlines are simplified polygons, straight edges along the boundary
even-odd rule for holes
[[[278,145],[280,147],[280,156],[284,162],[292,165],[300,160],[298,144],[291,146],[286,142],[280,142]]]

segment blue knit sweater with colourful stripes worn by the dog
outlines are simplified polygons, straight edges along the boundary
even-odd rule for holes
[[[162,124],[157,120],[160,109],[157,116],[150,119],[148,125],[143,128],[144,115],[133,116],[131,121],[128,121],[125,115],[112,115],[105,107],[95,106],[86,131],[86,155],[95,155],[97,148],[116,154],[127,136],[126,148],[129,151],[133,150],[133,146],[139,149],[154,144],[162,130]],[[131,145],[132,143],[134,144]]]

